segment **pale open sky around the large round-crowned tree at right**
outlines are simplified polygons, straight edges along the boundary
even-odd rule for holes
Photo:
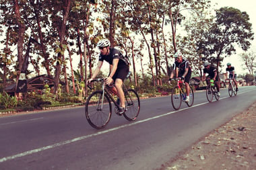
[[[245,11],[249,15],[249,22],[252,24],[253,32],[254,32],[254,38],[252,42],[251,48],[255,50],[256,52],[256,10],[255,10],[255,5],[256,1],[255,0],[211,0],[212,4],[218,3],[216,5],[216,9],[220,9],[220,7],[234,7],[236,9],[239,9],[240,11]],[[243,75],[245,73],[249,73],[247,70],[243,70],[242,67],[242,60],[238,56],[238,54],[243,53],[243,50],[241,48],[237,47],[236,48],[236,54],[232,54],[230,57],[224,58],[222,65],[225,66],[223,68],[226,68],[226,63],[230,62],[232,66],[234,66],[234,69],[236,71],[237,75]]]

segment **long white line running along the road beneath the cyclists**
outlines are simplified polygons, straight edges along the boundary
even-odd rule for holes
[[[241,95],[241,94],[247,93],[247,92],[249,92],[249,91],[245,91],[245,92],[239,93],[238,95]],[[229,97],[229,96],[228,96],[228,97]],[[228,97],[220,98],[220,100],[221,100],[221,99],[226,99],[226,98],[228,98]],[[214,101],[214,102],[215,102],[215,101]],[[195,108],[195,107],[197,107],[197,106],[199,106],[199,105],[204,105],[204,104],[207,104],[207,103],[209,103],[209,102],[199,103],[199,104],[197,104],[197,105],[192,105],[192,106],[189,107],[189,108]],[[114,131],[114,130],[119,130],[119,129],[121,129],[121,128],[126,128],[126,127],[129,127],[129,126],[133,126],[133,125],[135,125],[135,124],[141,124],[141,123],[143,123],[143,122],[148,122],[148,121],[154,120],[154,119],[156,119],[156,118],[161,118],[161,117],[163,117],[163,116],[168,116],[168,115],[174,114],[174,113],[176,113],[176,112],[180,112],[180,111],[183,111],[183,110],[188,110],[189,108],[183,108],[183,109],[181,109],[181,110],[177,110],[177,111],[173,111],[173,112],[168,112],[168,113],[166,113],[166,114],[162,114],[162,115],[159,115],[159,116],[154,116],[154,117],[152,117],[152,118],[148,118],[148,119],[145,119],[145,120],[139,120],[139,121],[133,122],[133,123],[131,123],[131,124],[125,124],[125,125],[123,125],[123,126],[119,126],[119,127],[116,127],[116,128],[111,128],[111,129],[108,129],[108,130],[104,130],[104,131],[101,131],[101,132],[97,132],[97,133],[95,133],[95,134],[89,134],[89,135],[86,135],[86,136],[80,136],[80,137],[78,137],[78,138],[73,138],[73,139],[71,139],[71,140],[65,140],[65,141],[63,141],[63,142],[58,142],[58,143],[51,144],[51,145],[49,145],[49,146],[44,146],[44,147],[41,147],[41,148],[36,148],[36,149],[34,149],[34,150],[26,151],[26,152],[24,152],[24,153],[19,153],[19,154],[12,155],[12,156],[9,156],[9,157],[3,157],[3,158],[0,159],[0,163],[3,163],[3,162],[5,162],[5,161],[9,161],[9,160],[11,160],[11,159],[16,159],[16,158],[18,158],[18,157],[24,157],[24,156],[26,156],[26,155],[31,155],[31,154],[33,154],[33,153],[39,153],[39,152],[41,152],[41,151],[45,151],[45,150],[50,149],[50,148],[55,148],[55,147],[57,147],[57,146],[63,146],[63,145],[65,145],[65,144],[69,144],[69,143],[72,143],[72,142],[77,142],[77,141],[79,141],[79,140],[84,140],[84,139],[86,139],[86,138],[90,138],[90,137],[93,137],[93,136],[98,136],[98,135],[100,135],[100,134],[106,134],[106,133],[112,132],[112,131]]]

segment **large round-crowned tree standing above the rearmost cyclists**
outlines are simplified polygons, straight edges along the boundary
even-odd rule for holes
[[[211,56],[216,54],[217,67],[220,56],[236,52],[235,45],[247,50],[253,40],[252,24],[249,15],[233,7],[222,7],[216,11],[216,21],[210,30],[203,32],[203,38],[198,42],[197,50],[201,54]]]

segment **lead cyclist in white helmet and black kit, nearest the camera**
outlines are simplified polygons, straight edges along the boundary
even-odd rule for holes
[[[98,60],[98,65],[91,77],[88,80],[88,83],[95,79],[98,73],[100,72],[100,68],[102,67],[103,61],[110,65],[110,73],[108,77],[104,78],[106,85],[115,85],[113,87],[113,93],[117,93],[120,102],[120,110],[119,115],[123,114],[126,110],[125,108],[125,94],[123,92],[123,81],[129,72],[129,62],[127,59],[121,54],[121,52],[115,48],[110,48],[110,42],[107,39],[100,40],[97,44],[98,48],[100,48],[100,56]]]

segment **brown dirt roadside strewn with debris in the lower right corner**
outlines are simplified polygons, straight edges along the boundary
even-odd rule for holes
[[[159,170],[256,170],[256,103]]]

